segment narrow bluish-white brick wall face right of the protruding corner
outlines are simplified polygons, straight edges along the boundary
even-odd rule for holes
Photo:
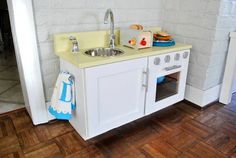
[[[236,0],[222,0],[217,16],[211,60],[205,80],[206,88],[222,82],[228,51],[229,33],[231,31],[236,31]]]

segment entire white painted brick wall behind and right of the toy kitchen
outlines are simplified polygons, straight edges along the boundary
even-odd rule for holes
[[[52,35],[107,29],[112,8],[115,26],[161,26],[176,41],[193,45],[187,83],[207,90],[221,83],[228,34],[236,30],[236,0],[33,0],[44,88],[50,99],[59,71]]]

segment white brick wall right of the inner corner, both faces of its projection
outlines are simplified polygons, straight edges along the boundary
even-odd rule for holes
[[[193,45],[187,83],[207,90],[221,83],[228,34],[235,30],[235,0],[166,0],[163,29]]]

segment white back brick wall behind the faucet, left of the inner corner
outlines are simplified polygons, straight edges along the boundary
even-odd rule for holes
[[[160,26],[162,0],[33,0],[41,68],[46,100],[51,98],[59,72],[59,60],[53,52],[52,35],[108,29],[103,24],[105,11],[112,8],[115,27],[132,23]]]

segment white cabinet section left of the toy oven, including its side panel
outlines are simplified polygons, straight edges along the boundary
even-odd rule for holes
[[[61,60],[75,76],[77,108],[70,123],[84,139],[144,116],[147,58],[79,69]]]

